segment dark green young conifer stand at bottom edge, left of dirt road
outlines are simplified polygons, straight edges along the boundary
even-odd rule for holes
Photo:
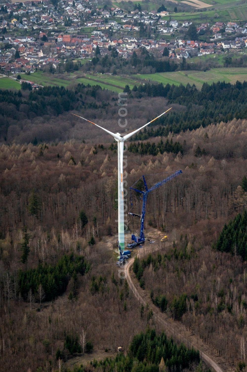
[[[193,369],[191,366],[197,366],[196,371],[204,369],[198,351],[188,349],[182,343],[177,346],[164,332],[157,335],[154,329],[148,328],[145,333],[141,332],[133,337],[126,356],[119,354],[114,359],[107,357],[100,362],[93,360],[91,368],[93,371],[104,372],[161,372]],[[81,366],[74,371],[86,372],[88,369]]]

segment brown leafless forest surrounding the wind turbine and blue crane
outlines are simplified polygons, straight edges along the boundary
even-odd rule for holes
[[[212,250],[212,244],[224,224],[247,207],[246,129],[246,120],[234,119],[169,134],[168,144],[182,144],[183,155],[127,150],[126,168],[129,186],[142,174],[151,174],[146,180],[152,185],[162,177],[155,173],[183,170],[181,177],[148,197],[147,236],[160,231],[178,242],[161,252],[161,259],[145,259],[149,263],[142,269],[142,288],[157,308],[196,332],[233,365],[244,352],[246,271],[238,255],[232,260],[231,253]],[[98,141],[95,129],[88,130]],[[161,143],[154,140],[155,147]],[[116,345],[126,350],[129,336],[147,325],[160,330],[150,308],[139,307],[117,275],[112,253],[117,154],[110,142],[103,143],[70,140],[0,147],[0,316],[14,320],[1,323],[4,368],[22,371],[27,355],[31,369],[46,368],[46,362],[56,369],[56,353],[66,365],[77,355],[70,350],[82,348],[81,343],[75,349],[65,347],[67,335],[80,340],[84,332],[93,350],[112,353]],[[140,213],[141,200],[135,193],[129,192],[127,204],[129,211]],[[139,221],[129,217],[128,226],[137,231]],[[164,278],[169,280],[163,283]],[[122,327],[119,316],[131,321]]]

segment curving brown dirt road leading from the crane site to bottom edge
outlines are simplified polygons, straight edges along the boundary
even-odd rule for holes
[[[169,244],[169,243],[168,243]],[[171,244],[171,243],[170,243]],[[138,252],[138,257],[145,256],[148,253],[153,253],[159,250],[159,246],[148,246],[141,248]],[[183,342],[187,347],[194,347],[194,349],[199,350],[201,359],[215,372],[226,372],[235,371],[234,365],[228,364],[222,357],[218,356],[213,348],[205,345],[202,340],[190,331],[187,331],[184,325],[180,322],[173,321],[165,313],[158,310],[157,307],[151,302],[150,296],[145,289],[141,289],[139,283],[135,279],[134,273],[131,267],[134,262],[134,257],[128,260],[128,263],[122,268],[124,270],[125,278],[131,288],[131,291],[135,295],[139,304],[149,305],[149,308],[153,311],[153,318],[157,323],[160,323],[162,328],[164,328],[167,336],[172,336],[177,342]]]

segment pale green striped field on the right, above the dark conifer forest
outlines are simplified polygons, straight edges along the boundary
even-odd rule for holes
[[[137,74],[133,76],[135,79],[152,82],[157,81],[163,84],[195,84],[198,89],[201,89],[202,84],[216,83],[217,81],[226,81],[228,83],[236,83],[236,81],[247,80],[247,68],[214,68],[210,71],[177,71],[169,73],[156,74]]]

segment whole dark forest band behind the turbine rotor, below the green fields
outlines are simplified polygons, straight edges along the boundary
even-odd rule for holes
[[[138,132],[132,141],[167,137],[170,132],[178,134],[234,118],[244,119],[246,94],[246,82],[234,85],[218,82],[212,86],[204,83],[201,90],[189,84],[186,87],[149,83],[134,86],[128,94],[128,111],[135,125],[141,120],[147,122],[157,116],[161,111],[159,106],[164,109],[172,106],[172,110],[154,125],[151,124],[150,128]],[[106,128],[118,120],[115,93],[102,90],[99,86],[78,84],[70,90],[45,87],[33,92],[18,93],[0,90],[0,99],[1,139],[5,144],[14,139],[19,143],[33,144],[58,142],[75,136],[79,140],[89,139],[90,131],[84,128],[81,119],[79,122],[71,115],[72,110],[83,113],[84,117],[97,118]],[[83,131],[80,129],[82,124]],[[231,157],[231,154],[228,156]]]

